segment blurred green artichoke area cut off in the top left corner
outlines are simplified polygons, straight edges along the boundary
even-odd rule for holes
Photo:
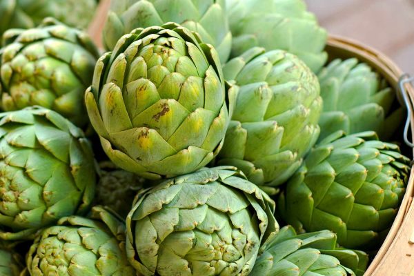
[[[1,0],[0,37],[10,28],[34,28],[45,17],[86,28],[96,6],[95,0]]]

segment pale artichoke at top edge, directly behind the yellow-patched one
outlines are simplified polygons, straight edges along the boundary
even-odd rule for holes
[[[231,33],[226,17],[225,0],[117,0],[112,1],[103,42],[108,50],[118,39],[135,28],[161,26],[176,22],[197,32],[204,43],[212,44],[221,62],[230,55]]]

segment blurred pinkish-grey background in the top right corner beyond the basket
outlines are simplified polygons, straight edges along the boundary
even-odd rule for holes
[[[384,52],[414,75],[414,0],[305,0],[331,34]]]

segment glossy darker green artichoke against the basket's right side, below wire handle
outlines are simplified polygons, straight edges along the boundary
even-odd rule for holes
[[[409,162],[375,132],[335,132],[288,181],[279,214],[301,233],[328,229],[346,248],[377,248],[397,215]]]

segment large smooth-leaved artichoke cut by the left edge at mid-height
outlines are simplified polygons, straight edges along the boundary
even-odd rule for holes
[[[93,154],[79,128],[44,108],[0,113],[0,239],[32,239],[86,213],[94,195]]]

